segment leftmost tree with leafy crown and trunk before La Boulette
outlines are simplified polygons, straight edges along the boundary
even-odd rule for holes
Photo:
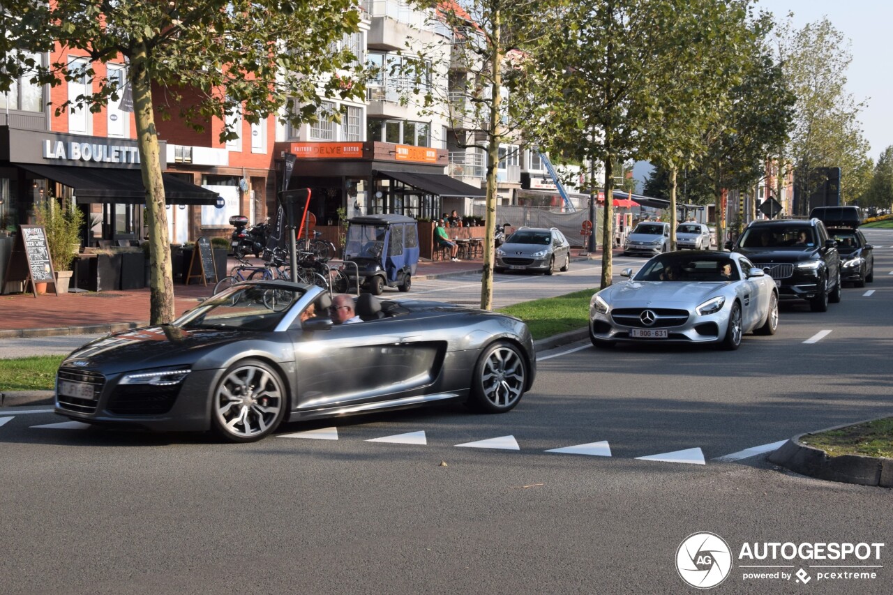
[[[203,0],[184,3],[158,0],[6,0],[0,11],[0,91],[30,73],[32,81],[51,86],[86,74],[91,93],[57,105],[98,111],[123,89],[96,76],[94,65],[124,60],[133,96],[140,167],[146,188],[150,241],[152,323],[173,319],[173,278],[167,236],[162,164],[155,130],[152,89],[164,88],[179,101],[183,89],[199,99],[179,105],[179,115],[201,128],[211,118],[226,121],[244,111],[256,123],[291,102],[302,105],[281,113],[298,124],[317,118],[320,96],[362,96],[347,66],[355,58],[333,44],[358,30],[355,0]],[[213,49],[212,49],[213,48]],[[86,72],[74,70],[67,50],[87,55]],[[31,54],[49,53],[42,65]],[[337,117],[337,116],[336,116]],[[225,127],[221,141],[235,138]]]

